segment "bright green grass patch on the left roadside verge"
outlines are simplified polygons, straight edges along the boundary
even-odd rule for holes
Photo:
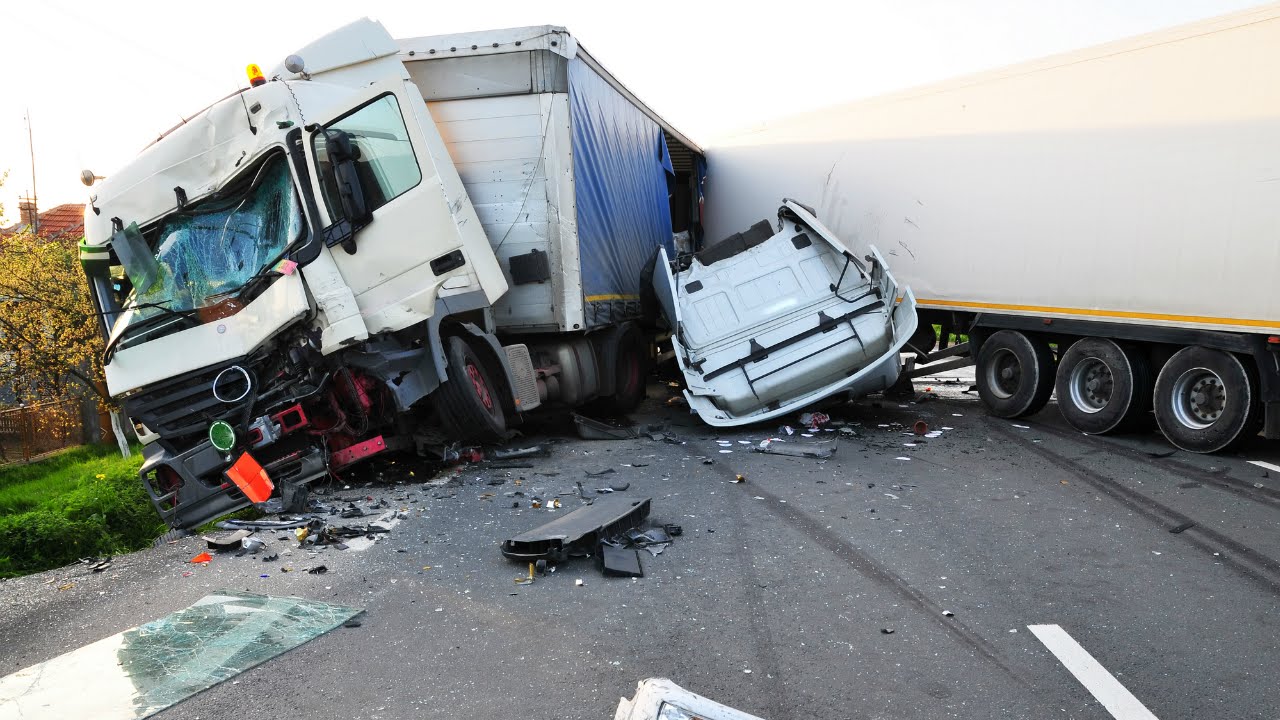
[[[151,544],[164,532],[138,480],[142,456],[76,447],[0,469],[0,577]]]

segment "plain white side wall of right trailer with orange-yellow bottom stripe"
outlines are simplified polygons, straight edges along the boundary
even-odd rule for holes
[[[708,151],[708,237],[782,195],[919,306],[1280,332],[1280,5],[817,110]]]

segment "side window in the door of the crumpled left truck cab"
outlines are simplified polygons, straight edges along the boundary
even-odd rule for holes
[[[351,137],[356,176],[369,210],[376,210],[413,188],[422,170],[408,141],[404,118],[394,95],[383,95],[352,113],[329,123],[328,131],[343,131]],[[325,131],[311,137],[320,170],[320,188],[333,218],[343,217],[338,182],[329,158]]]

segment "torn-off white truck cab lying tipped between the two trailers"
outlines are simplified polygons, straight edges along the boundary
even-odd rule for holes
[[[874,247],[859,260],[792,200],[778,209],[778,227],[762,220],[677,259],[675,272],[659,251],[654,290],[685,398],[710,425],[882,391],[897,380],[899,352],[915,332],[915,296]]]

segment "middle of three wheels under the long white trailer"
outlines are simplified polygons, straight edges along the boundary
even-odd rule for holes
[[[1151,411],[1147,359],[1105,338],[1076,341],[1057,361],[1057,409],[1082,433],[1137,429]]]

